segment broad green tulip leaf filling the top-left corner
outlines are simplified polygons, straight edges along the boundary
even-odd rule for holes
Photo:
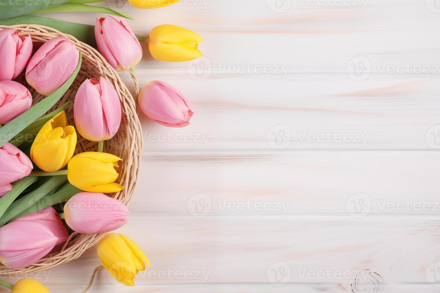
[[[2,1],[0,5],[0,20],[47,9],[58,4],[62,4],[66,1],[67,0]]]

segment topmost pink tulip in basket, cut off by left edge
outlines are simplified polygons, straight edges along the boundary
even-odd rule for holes
[[[20,36],[16,29],[0,30],[0,80],[12,80],[22,73],[31,54],[29,35]]]

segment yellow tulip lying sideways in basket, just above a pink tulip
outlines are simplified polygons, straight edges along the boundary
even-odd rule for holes
[[[70,184],[88,192],[118,192],[124,187],[114,183],[121,158],[105,152],[83,152],[70,159],[67,179]]]

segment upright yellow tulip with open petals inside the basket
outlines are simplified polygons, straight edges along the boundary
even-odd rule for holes
[[[55,172],[66,166],[77,145],[75,128],[67,124],[66,112],[50,119],[38,132],[30,148],[30,158],[46,172]]]

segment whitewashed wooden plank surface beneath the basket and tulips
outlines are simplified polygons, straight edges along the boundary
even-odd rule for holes
[[[172,129],[141,114],[142,170],[118,232],[153,268],[135,287],[100,271],[89,292],[440,292],[440,3],[108,5],[140,35],[198,32],[205,57],[165,63],[144,46],[141,86],[172,84],[195,115]],[[27,277],[81,292],[97,265],[93,247]]]

